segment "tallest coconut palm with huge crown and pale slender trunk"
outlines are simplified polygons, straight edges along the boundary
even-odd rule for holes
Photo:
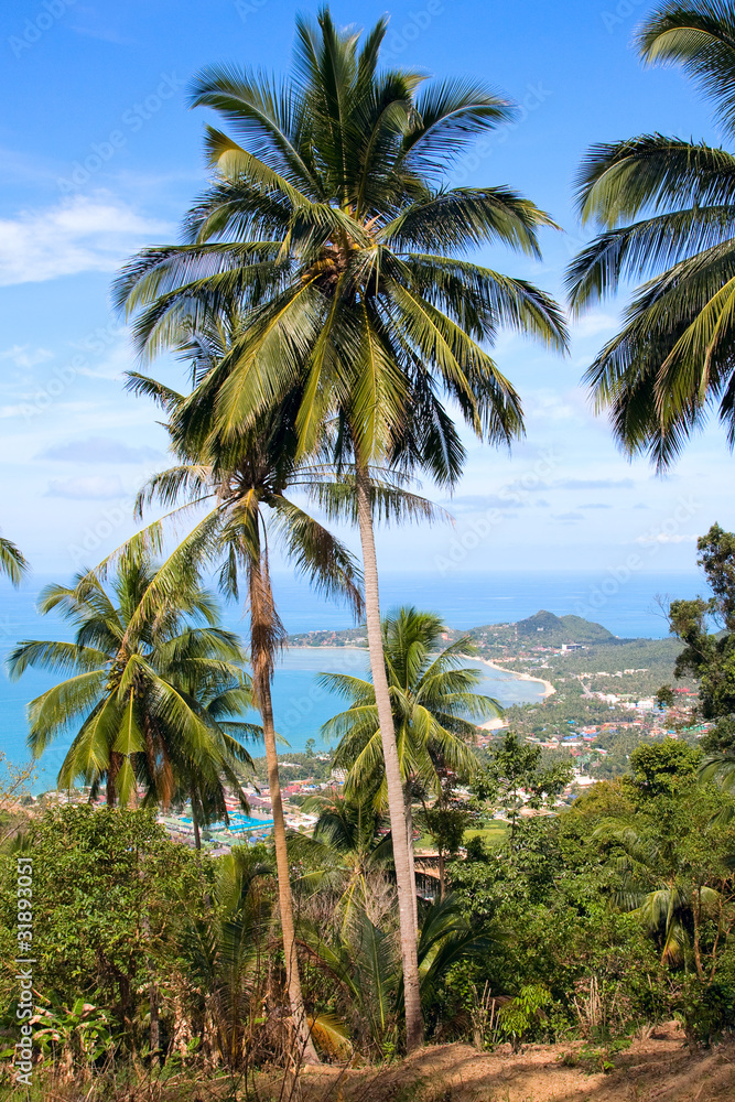
[[[133,259],[117,299],[138,312],[139,346],[154,355],[182,318],[196,322],[236,296],[248,324],[192,395],[193,410],[216,395],[219,431],[237,434],[298,386],[300,447],[309,452],[329,422],[335,458],[354,464],[410,1049],[421,1041],[421,1008],[370,466],[421,466],[452,485],[464,447],[445,398],[480,437],[509,443],[522,430],[518,396],[483,345],[501,325],[554,347],[565,332],[532,284],[465,258],[495,242],[538,256],[548,215],[508,187],[446,186],[463,150],[508,121],[511,107],[469,80],[424,86],[418,73],[379,71],[386,30],[381,20],[360,39],[323,9],[317,26],[296,21],[291,79],[205,71],[193,102],[218,111],[235,137],[208,128],[217,175],[191,212],[187,244]]]

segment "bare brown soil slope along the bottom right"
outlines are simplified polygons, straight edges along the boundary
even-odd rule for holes
[[[672,1022],[615,1056],[607,1072],[581,1066],[581,1048],[437,1045],[379,1072],[309,1070],[300,1085],[304,1102],[735,1102],[733,1039],[692,1056]]]

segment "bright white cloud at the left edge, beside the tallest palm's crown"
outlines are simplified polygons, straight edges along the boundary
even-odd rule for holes
[[[24,210],[0,219],[0,285],[115,271],[134,249],[171,231],[104,192]]]

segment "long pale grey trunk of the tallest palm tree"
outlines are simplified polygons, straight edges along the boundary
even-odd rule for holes
[[[375,552],[372,531],[372,509],[370,507],[370,478],[367,467],[356,466],[357,516],[363,544],[363,566],[365,572],[365,611],[367,620],[370,669],[378,707],[382,755],[386,765],[388,788],[388,810],[393,839],[393,861],[398,887],[398,915],[401,936],[401,958],[403,961],[403,991],[406,1002],[406,1047],[409,1052],[423,1044],[423,1016],[419,990],[419,962],[417,958],[417,922],[414,919],[415,878],[411,879],[403,803],[403,784],[398,760],[393,714],[390,705],[386,661],[382,652],[380,628],[380,599],[378,595],[378,561]]]

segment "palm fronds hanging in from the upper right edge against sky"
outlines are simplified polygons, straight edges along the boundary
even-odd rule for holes
[[[645,20],[650,64],[681,65],[735,136],[735,8],[667,0]],[[582,311],[624,280],[636,291],[625,325],[586,374],[597,408],[630,454],[670,465],[715,406],[735,444],[735,154],[660,133],[593,147],[577,188],[580,214],[602,233],[572,262]]]

